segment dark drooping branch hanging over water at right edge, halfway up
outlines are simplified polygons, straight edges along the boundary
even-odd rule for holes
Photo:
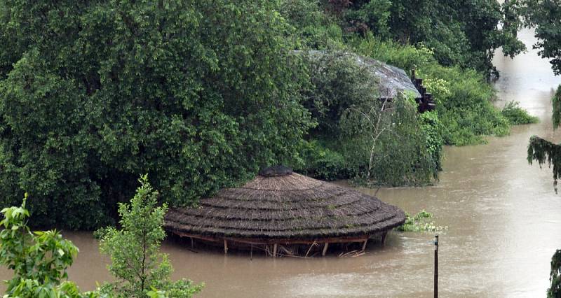
[[[538,162],[539,166],[548,164],[553,165],[553,187],[557,192],[557,180],[561,176],[561,145],[551,143],[541,139],[539,136],[532,136],[528,145],[528,162]]]

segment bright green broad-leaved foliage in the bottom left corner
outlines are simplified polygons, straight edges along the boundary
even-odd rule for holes
[[[5,298],[97,297],[95,293],[79,292],[76,284],[67,281],[67,268],[72,265],[78,248],[62,238],[56,230],[31,232],[27,227],[25,204],[2,209],[0,225],[0,262],[13,270],[6,281]]]

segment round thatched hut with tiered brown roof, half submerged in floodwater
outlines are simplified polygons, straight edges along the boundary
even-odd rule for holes
[[[200,208],[175,208],[165,228],[180,236],[224,243],[276,245],[363,242],[405,221],[405,213],[375,197],[288,168],[261,171],[242,187],[202,199]],[[363,246],[363,249],[364,249]]]

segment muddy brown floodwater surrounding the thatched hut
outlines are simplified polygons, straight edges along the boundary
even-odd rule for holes
[[[532,31],[521,32],[531,47]],[[498,55],[496,82],[506,101],[539,116],[536,125],[514,127],[510,136],[482,146],[445,148],[440,181],[433,187],[381,189],[377,197],[405,211],[426,209],[440,236],[442,297],[543,297],[550,257],[561,248],[561,197],[550,170],[526,161],[530,136],[560,141],[550,121],[550,97],[561,83],[535,50],[515,59]],[[376,190],[360,189],[374,194]],[[106,281],[107,258],[88,232],[65,232],[80,254],[69,277],[83,290]],[[200,297],[430,297],[433,234],[389,234],[386,246],[369,246],[360,257],[313,259],[266,257],[219,251],[194,253],[177,241],[163,245],[174,278],[204,281]],[[5,269],[0,278],[9,278]]]

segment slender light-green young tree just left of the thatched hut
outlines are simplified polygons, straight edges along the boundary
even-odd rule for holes
[[[170,281],[173,271],[168,256],[159,253],[165,237],[163,216],[168,207],[156,207],[158,192],[147,175],[139,179],[141,186],[130,204],[119,204],[122,229],[108,227],[98,232],[100,250],[111,257],[109,271],[116,282],[102,286],[100,292],[111,297],[191,297],[202,285],[191,281]],[[158,290],[154,290],[158,289]]]

